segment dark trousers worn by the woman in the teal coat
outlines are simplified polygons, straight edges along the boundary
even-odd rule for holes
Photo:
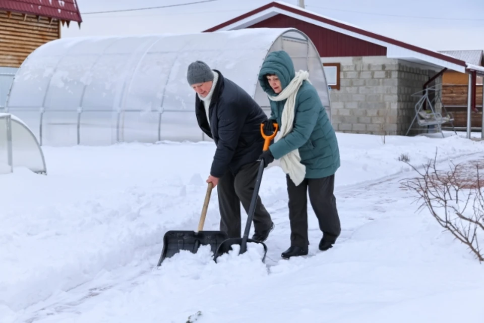
[[[318,218],[319,228],[325,235],[336,238],[341,233],[336,197],[333,195],[334,175],[304,179],[298,186],[286,176],[289,195],[289,222],[291,246],[307,247],[308,240],[308,190],[309,200]],[[326,239],[326,238],[325,238]]]

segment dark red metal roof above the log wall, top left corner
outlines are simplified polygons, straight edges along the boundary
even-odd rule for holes
[[[0,10],[82,22],[76,0],[0,0]]]

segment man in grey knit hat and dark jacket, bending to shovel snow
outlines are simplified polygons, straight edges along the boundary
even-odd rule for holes
[[[220,231],[241,233],[240,203],[249,212],[264,140],[260,126],[267,116],[244,89],[207,64],[190,64],[187,80],[197,93],[195,114],[202,131],[217,145],[207,183],[218,185]],[[265,241],[274,228],[258,196],[252,239]]]

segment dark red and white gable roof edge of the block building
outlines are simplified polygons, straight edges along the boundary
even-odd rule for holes
[[[274,17],[278,14],[299,19],[309,24],[317,25],[322,28],[330,29],[354,38],[384,46],[387,48],[388,58],[404,59],[420,64],[435,67],[446,67],[451,70],[465,72],[465,62],[452,56],[376,34],[346,22],[328,18],[318,13],[279,1],[254,9],[217,26],[209,28],[205,30],[205,32],[243,29],[252,26],[255,23]]]

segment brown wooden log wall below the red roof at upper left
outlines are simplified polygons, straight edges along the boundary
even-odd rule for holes
[[[58,38],[57,19],[0,11],[0,66],[20,67],[37,47]]]

